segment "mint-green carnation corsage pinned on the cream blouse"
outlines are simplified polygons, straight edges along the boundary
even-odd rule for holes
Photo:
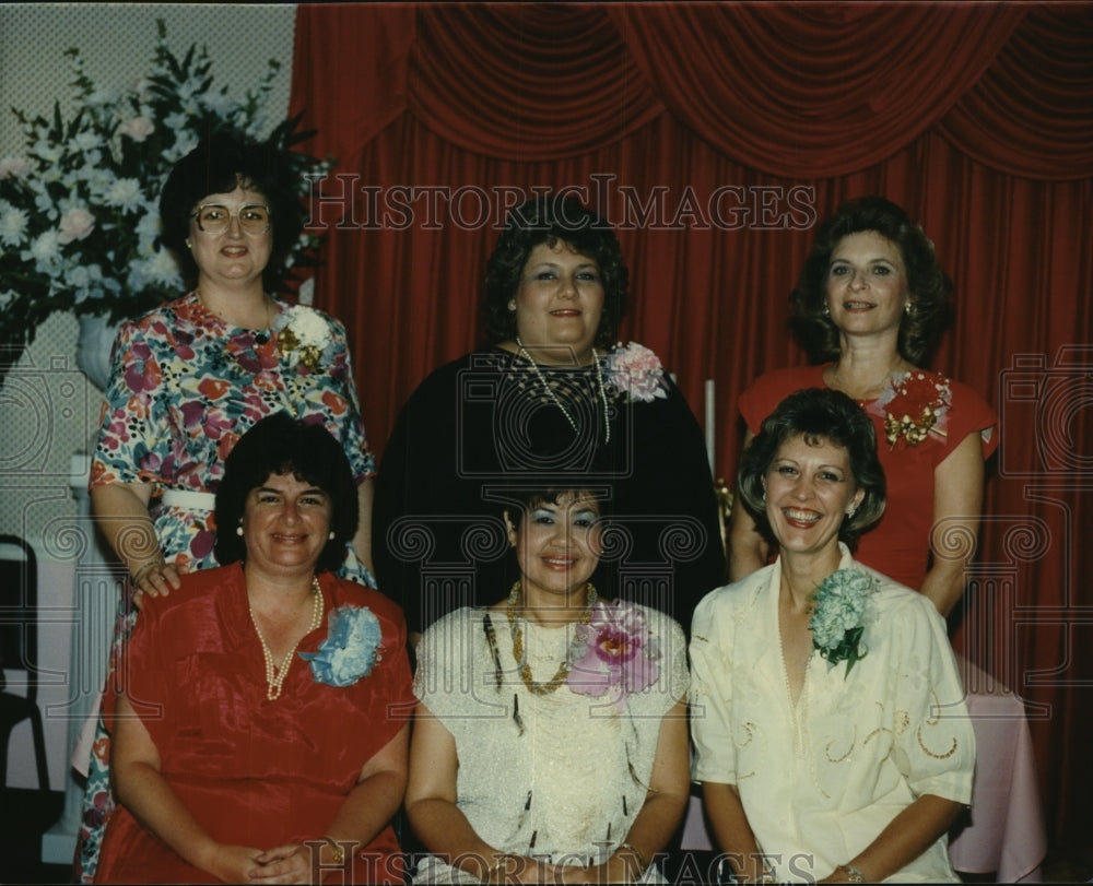
[[[812,647],[826,661],[830,671],[846,662],[846,680],[850,669],[869,651],[861,640],[871,617],[872,579],[857,569],[838,569],[820,582],[812,594],[813,610],[809,619]]]

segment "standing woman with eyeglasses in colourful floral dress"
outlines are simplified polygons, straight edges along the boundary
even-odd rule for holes
[[[126,594],[169,593],[179,576],[216,565],[214,494],[236,440],[262,417],[287,412],[321,424],[342,445],[361,520],[341,576],[372,579],[374,461],[365,438],[345,330],[333,318],[274,295],[303,229],[292,155],[215,133],[184,156],[160,198],[162,238],[190,291],[121,324],[111,358],[91,500],[125,565]],[[115,645],[134,612],[122,601]],[[90,739],[90,730],[86,732]],[[80,872],[94,875],[108,817],[109,736],[91,756]],[[87,752],[73,755],[78,768]]]

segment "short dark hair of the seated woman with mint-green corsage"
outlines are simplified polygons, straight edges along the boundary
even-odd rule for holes
[[[755,527],[776,543],[766,518],[763,479],[783,444],[804,437],[810,446],[821,441],[847,451],[850,473],[857,489],[865,492],[853,517],[846,517],[838,530],[839,541],[851,547],[869,527],[884,513],[884,469],[877,458],[877,435],[869,416],[842,391],[806,388],[796,391],[763,422],[760,433],[748,445],[737,471],[737,494]]]

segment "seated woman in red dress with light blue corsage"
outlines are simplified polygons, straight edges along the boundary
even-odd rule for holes
[[[402,882],[406,623],[333,575],[355,489],[329,433],[286,413],[233,449],[230,565],[144,601],[107,696],[119,806],[96,882]]]

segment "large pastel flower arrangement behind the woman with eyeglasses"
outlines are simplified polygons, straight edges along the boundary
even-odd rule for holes
[[[78,110],[64,119],[60,102],[50,118],[14,110],[24,154],[0,160],[0,349],[13,358],[56,311],[136,316],[177,297],[183,281],[158,241],[157,201],[174,164],[200,137],[234,129],[251,138],[267,126],[265,105],[280,64],[240,102],[215,88],[207,51],[191,46],[179,59],[158,37],[152,70],[121,92],[97,87],[78,49],[66,56]],[[274,127],[266,141],[281,149],[309,138],[299,118]],[[332,163],[290,152],[301,172],[316,176]],[[301,197],[309,185],[301,177]],[[319,238],[305,235],[289,257],[314,264]],[[12,357],[5,357],[4,362]]]

